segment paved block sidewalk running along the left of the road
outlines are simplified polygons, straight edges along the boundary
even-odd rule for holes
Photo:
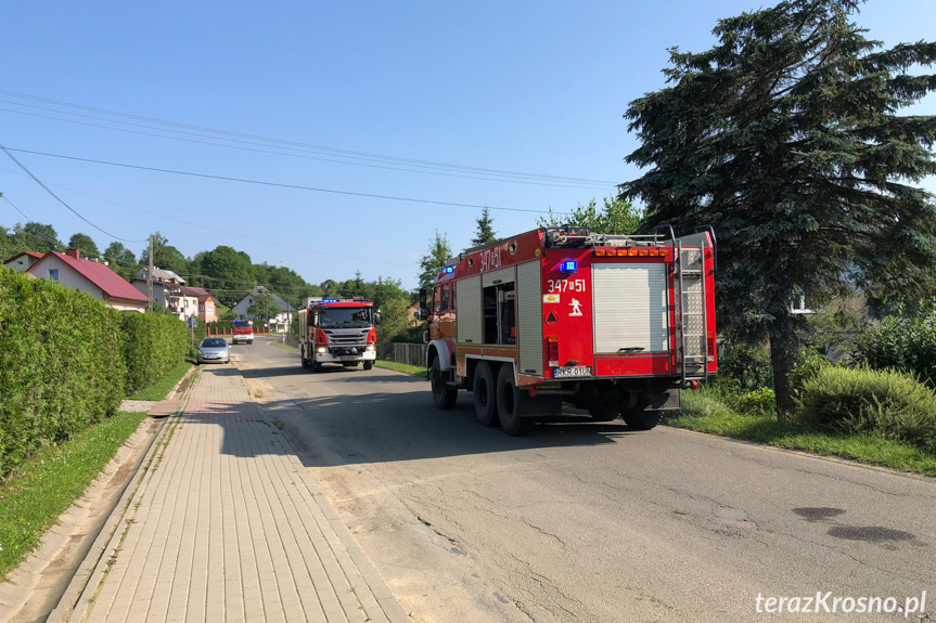
[[[49,621],[409,621],[240,373],[185,398]]]

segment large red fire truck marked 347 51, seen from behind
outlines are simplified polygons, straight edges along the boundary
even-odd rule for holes
[[[453,258],[421,290],[437,408],[473,392],[478,420],[509,434],[562,403],[650,429],[679,391],[717,371],[716,238],[534,230]],[[429,299],[431,295],[431,299]]]

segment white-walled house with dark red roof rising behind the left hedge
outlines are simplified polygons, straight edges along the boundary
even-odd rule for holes
[[[106,264],[82,259],[78,249],[64,254],[49,251],[29,267],[26,274],[91,295],[121,311],[145,312],[149,303],[146,296],[124,277]]]

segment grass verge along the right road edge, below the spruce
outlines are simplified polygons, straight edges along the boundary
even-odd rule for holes
[[[816,431],[803,425],[778,421],[772,415],[738,413],[705,390],[683,392],[682,410],[665,416],[664,424],[787,450],[803,450],[936,476],[936,454],[909,443],[871,434]]]

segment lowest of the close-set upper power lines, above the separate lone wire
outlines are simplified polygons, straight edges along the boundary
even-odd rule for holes
[[[3,102],[3,100],[0,100],[0,102]],[[8,102],[8,103],[11,103],[11,104],[16,105],[16,106],[27,105],[27,104],[18,104],[16,102]],[[34,107],[41,108],[41,106],[34,106]],[[41,108],[41,109],[48,109],[48,108]],[[356,163],[356,161],[349,161],[349,160],[338,160],[335,158],[323,158],[323,157],[316,157],[316,156],[305,156],[302,154],[291,154],[291,153],[286,153],[283,151],[258,150],[258,148],[252,148],[252,147],[244,147],[244,146],[240,146],[240,145],[228,145],[225,143],[215,143],[215,142],[210,142],[210,141],[196,141],[194,139],[182,139],[179,137],[167,137],[165,134],[158,134],[158,133],[153,133],[153,132],[141,132],[138,130],[128,130],[125,128],[114,128],[112,126],[102,126],[99,124],[89,124],[86,121],[76,121],[74,119],[62,119],[59,117],[51,117],[48,115],[38,115],[35,113],[26,113],[23,111],[14,111],[11,108],[0,108],[0,111],[7,112],[7,113],[14,113],[17,115],[26,115],[29,117],[38,117],[40,119],[51,119],[53,121],[74,124],[77,126],[87,126],[90,128],[102,128],[105,130],[113,130],[115,132],[125,132],[128,134],[139,134],[142,137],[154,137],[157,139],[166,139],[166,140],[170,140],[170,141],[180,141],[180,142],[184,142],[184,143],[194,143],[194,144],[198,144],[198,145],[211,145],[211,146],[216,146],[216,147],[228,147],[231,150],[254,152],[254,153],[258,153],[258,154],[273,154],[273,155],[278,155],[278,156],[287,156],[291,158],[302,158],[305,160],[317,160],[317,161],[322,161],[322,163],[336,163],[336,164],[341,164],[341,165],[354,165],[357,167],[368,167],[368,168],[372,168],[372,169],[384,169],[384,170],[389,170],[389,171],[405,171],[405,172],[409,172],[409,173],[423,173],[423,174],[428,174],[428,176],[444,176],[447,178],[461,178],[461,179],[465,179],[465,180],[484,180],[484,181],[493,181],[493,182],[504,182],[504,183],[511,183],[511,184],[527,184],[527,185],[535,185],[535,186],[553,186],[553,187],[562,187],[562,189],[606,190],[606,189],[608,189],[608,186],[614,186],[614,184],[612,184],[611,182],[608,182],[607,184],[601,184],[601,185],[598,185],[594,183],[586,183],[586,182],[557,183],[557,182],[549,182],[549,181],[533,181],[533,180],[526,180],[526,179],[502,179],[502,178],[492,178],[492,177],[462,176],[462,174],[458,174],[458,173],[453,173],[453,172],[445,172],[444,170],[421,170],[421,169],[412,169],[412,168],[388,167],[388,166],[384,166],[384,165],[368,164],[368,161],[380,161],[380,160],[374,160],[373,158],[346,156],[347,158],[357,158],[357,159],[361,159],[364,161]],[[62,111],[54,111],[54,112],[63,113]],[[86,117],[86,118],[90,118],[90,119],[99,119],[98,117],[92,117],[90,115],[79,115],[77,113],[64,112],[64,114],[75,115],[75,116],[79,116],[79,117]],[[104,121],[113,122],[113,124],[125,124],[125,125],[136,126],[136,127],[140,127],[140,128],[154,129],[154,128],[150,128],[149,126],[142,126],[139,124],[129,124],[126,121],[114,121],[111,119],[99,119],[99,120],[104,120]],[[165,130],[165,131],[176,132],[176,133],[181,133],[181,134],[188,134],[188,135],[193,135],[193,137],[203,137],[203,134],[196,134],[193,132],[183,132],[180,130]],[[231,141],[231,142],[235,142],[235,143],[242,143],[242,144],[246,144],[246,145],[260,145],[260,146],[264,145],[262,143],[254,143],[254,142],[249,142],[249,141],[240,141],[236,139],[227,139],[223,137],[221,137],[220,140]],[[299,150],[296,147],[285,147],[284,146],[284,147],[275,147],[275,148],[289,150],[289,151],[298,151],[298,152],[305,152],[305,153],[317,153],[315,151]],[[411,165],[411,166],[429,168],[429,169],[438,168],[438,167],[433,167],[431,165]],[[489,176],[516,177],[516,176],[511,176],[510,173],[489,173]]]

